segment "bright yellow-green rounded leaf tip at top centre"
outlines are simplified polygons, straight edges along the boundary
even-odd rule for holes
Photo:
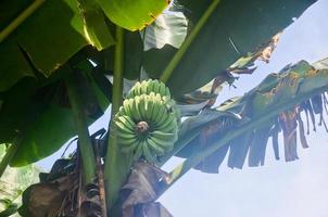
[[[128,30],[150,25],[168,5],[167,0],[97,0],[106,16]]]

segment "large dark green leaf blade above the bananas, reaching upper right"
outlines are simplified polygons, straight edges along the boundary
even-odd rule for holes
[[[192,26],[197,25],[213,1],[179,2],[187,9],[185,11]],[[175,95],[202,87],[237,60],[247,56],[248,52],[256,52],[261,44],[267,43],[313,2],[222,0],[173,71],[167,85]],[[176,51],[168,44],[147,51],[147,72],[152,77],[159,77]]]

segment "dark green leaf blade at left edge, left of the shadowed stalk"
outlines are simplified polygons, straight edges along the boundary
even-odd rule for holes
[[[54,101],[52,91],[58,87],[46,87],[36,94],[34,81],[22,79],[5,92],[5,102],[0,112],[0,141],[10,143],[15,137],[22,137],[12,166],[24,166],[46,157],[75,135],[68,107],[48,104]],[[63,92],[58,90],[56,93]]]

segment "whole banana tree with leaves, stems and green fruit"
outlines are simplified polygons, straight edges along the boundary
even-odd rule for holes
[[[22,216],[171,216],[156,199],[191,168],[217,173],[307,148],[303,119],[327,128],[328,60],[270,74],[214,106],[223,85],[268,61],[315,1],[35,0],[0,3],[0,175],[59,158],[23,193]],[[188,79],[188,82],[186,80]],[[88,126],[110,107],[108,129]],[[305,114],[302,115],[302,113]],[[172,171],[169,158],[186,158]],[[12,208],[12,207],[11,207]],[[11,210],[12,213],[12,210]]]

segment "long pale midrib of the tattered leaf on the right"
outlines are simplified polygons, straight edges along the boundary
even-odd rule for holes
[[[201,152],[198,152],[193,155],[191,155],[189,158],[187,158],[185,162],[179,164],[176,168],[174,168],[169,175],[168,184],[166,188],[163,188],[163,190],[159,193],[159,196],[163,194],[171,186],[173,186],[179,178],[181,178],[187,171],[189,171],[192,167],[198,165],[201,161],[203,161],[206,156],[211,155],[218,149],[226,145],[229,141],[236,139],[237,137],[240,137],[242,133],[247,132],[248,130],[255,128],[263,123],[272,119],[273,117],[277,116],[280,112],[287,111],[295,106],[295,104],[301,103],[312,95],[319,94],[328,89],[328,86],[315,89],[308,93],[302,93],[298,95],[294,100],[286,103],[286,104],[277,104],[275,107],[270,108],[270,112],[268,113],[262,113],[258,114],[258,118],[253,119],[252,122],[239,127],[238,129],[235,129],[226,135],[223,139],[217,141],[216,143],[207,146],[206,149],[202,150]]]

